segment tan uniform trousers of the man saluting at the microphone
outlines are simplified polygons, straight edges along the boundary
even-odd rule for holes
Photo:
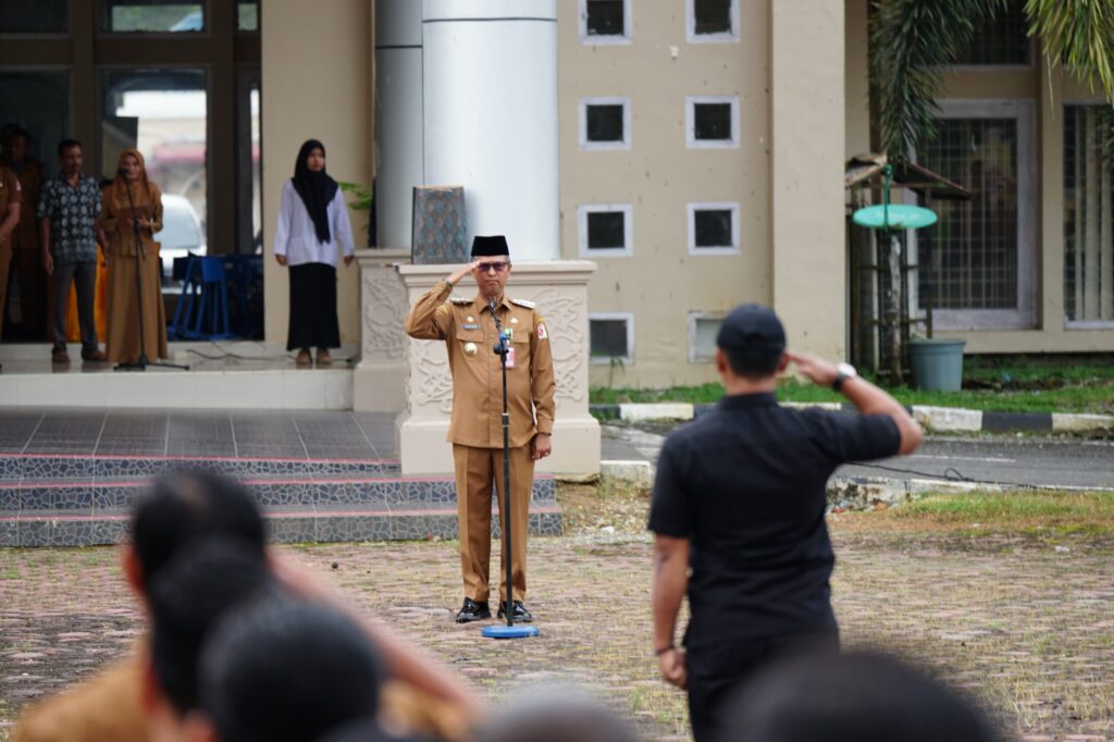
[[[465,597],[486,603],[490,592],[491,484],[498,491],[499,526],[507,533],[502,512],[502,449],[472,448],[453,443],[457,470],[457,515],[460,528],[460,572]],[[534,489],[534,459],[530,446],[510,449],[511,549],[515,564],[512,601],[526,599],[526,535],[530,492]],[[507,599],[507,540],[499,547],[499,599]]]

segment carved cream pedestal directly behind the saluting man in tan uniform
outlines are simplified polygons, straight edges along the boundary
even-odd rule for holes
[[[599,471],[599,423],[588,413],[587,289],[595,269],[588,261],[516,263],[507,286],[510,296],[537,302],[553,343],[557,377],[554,452],[538,463],[538,472]],[[405,292],[403,314],[449,273],[444,265],[399,265],[395,270]],[[466,280],[457,295],[473,296],[476,286],[469,283]],[[364,332],[369,328],[368,307],[365,304]],[[398,326],[402,328],[401,320]],[[450,472],[452,447],[446,436],[452,411],[452,379],[444,343],[410,338],[404,342],[405,407],[395,422],[402,473]]]

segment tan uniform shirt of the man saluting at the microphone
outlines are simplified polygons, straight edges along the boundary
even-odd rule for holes
[[[491,310],[482,295],[450,300],[441,281],[418,300],[407,318],[407,334],[443,340],[452,373],[449,441],[476,448],[502,448],[502,371]],[[504,295],[496,311],[510,331],[515,368],[507,369],[510,445],[526,446],[536,433],[553,435],[554,357],[549,329],[532,302]]]

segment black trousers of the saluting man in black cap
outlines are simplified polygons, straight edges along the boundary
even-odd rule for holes
[[[719,742],[727,731],[730,702],[766,665],[807,652],[838,652],[839,633],[775,636],[690,648],[688,720],[696,742]]]

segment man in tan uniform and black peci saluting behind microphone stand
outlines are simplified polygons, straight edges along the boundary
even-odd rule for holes
[[[502,371],[495,318],[510,339],[507,357],[507,401],[510,411],[510,487],[514,590],[516,622],[531,616],[526,599],[526,533],[534,462],[549,456],[554,427],[554,360],[549,331],[534,302],[504,294],[510,277],[510,248],[500,236],[472,241],[473,262],[457,269],[418,300],[407,318],[407,333],[419,340],[443,340],[452,374],[452,420],[449,441],[457,473],[457,512],[460,528],[460,568],[465,602],[457,623],[490,618],[488,575],[491,554],[491,484],[502,512]],[[473,299],[451,296],[453,286],[469,273],[479,285]],[[506,539],[502,548],[506,548]],[[506,564],[506,554],[500,563]],[[500,570],[501,572],[501,570]],[[506,576],[499,585],[499,617],[507,608]]]

